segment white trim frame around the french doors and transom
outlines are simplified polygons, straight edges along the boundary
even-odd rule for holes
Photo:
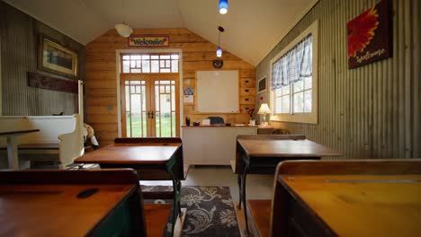
[[[181,48],[159,48],[159,49],[140,49],[140,48],[136,48],[136,49],[116,49],[115,50],[115,66],[116,66],[116,70],[115,70],[115,76],[117,78],[117,82],[116,82],[116,92],[117,92],[117,111],[121,111],[121,86],[120,86],[120,75],[121,75],[121,54],[125,54],[125,53],[177,53],[178,54],[178,100],[179,100],[179,107],[180,110],[178,111],[180,121],[178,123],[178,128],[180,128],[182,126],[182,121],[183,116],[184,116],[184,111],[183,111],[183,100],[181,99],[181,96],[183,96],[183,50]],[[121,118],[121,112],[117,113],[117,128],[118,128],[118,136],[121,137],[121,125],[122,125],[122,118]],[[180,131],[180,136],[182,136],[181,131]]]

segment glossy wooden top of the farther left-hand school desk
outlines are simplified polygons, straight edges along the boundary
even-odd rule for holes
[[[163,164],[168,162],[180,143],[112,144],[75,160],[76,163],[103,164]]]

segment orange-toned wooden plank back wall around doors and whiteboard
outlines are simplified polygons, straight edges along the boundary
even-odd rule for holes
[[[183,50],[184,87],[195,88],[195,72],[198,70],[213,70],[211,62],[216,59],[217,46],[186,29],[145,29],[134,30],[133,34],[169,35],[170,47]],[[111,143],[118,136],[117,131],[117,93],[116,93],[116,62],[115,50],[128,48],[127,39],[111,30],[93,40],[86,46],[86,117],[100,139],[102,145]],[[246,108],[255,105],[255,66],[224,51],[222,70],[239,70],[240,100],[243,113],[229,115],[221,114],[231,123],[248,123]],[[247,90],[247,92],[246,92]],[[196,92],[196,90],[194,90]],[[182,95],[181,95],[182,96]],[[246,97],[248,101],[245,101]],[[110,110],[112,108],[112,110]],[[184,105],[184,117],[192,121],[202,121],[210,115],[194,113],[194,104]],[[184,121],[184,118],[181,118]]]

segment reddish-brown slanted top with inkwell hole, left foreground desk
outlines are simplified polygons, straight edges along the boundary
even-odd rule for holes
[[[85,189],[99,189],[76,198]],[[0,236],[85,236],[133,184],[0,185]]]

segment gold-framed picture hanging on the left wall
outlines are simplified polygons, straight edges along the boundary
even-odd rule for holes
[[[40,53],[38,57],[40,70],[52,74],[76,78],[78,74],[77,53],[49,40],[40,37]]]

